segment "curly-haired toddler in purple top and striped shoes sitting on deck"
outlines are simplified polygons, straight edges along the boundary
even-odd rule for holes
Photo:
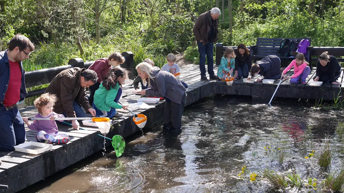
[[[39,112],[35,115],[35,118],[50,118],[50,120],[35,120],[30,124],[28,117],[23,117],[23,121],[28,125],[29,129],[37,130],[36,139],[38,142],[66,144],[69,141],[68,133],[57,130],[55,118],[64,118],[64,116],[53,112],[56,100],[54,94],[44,93],[33,102]]]

